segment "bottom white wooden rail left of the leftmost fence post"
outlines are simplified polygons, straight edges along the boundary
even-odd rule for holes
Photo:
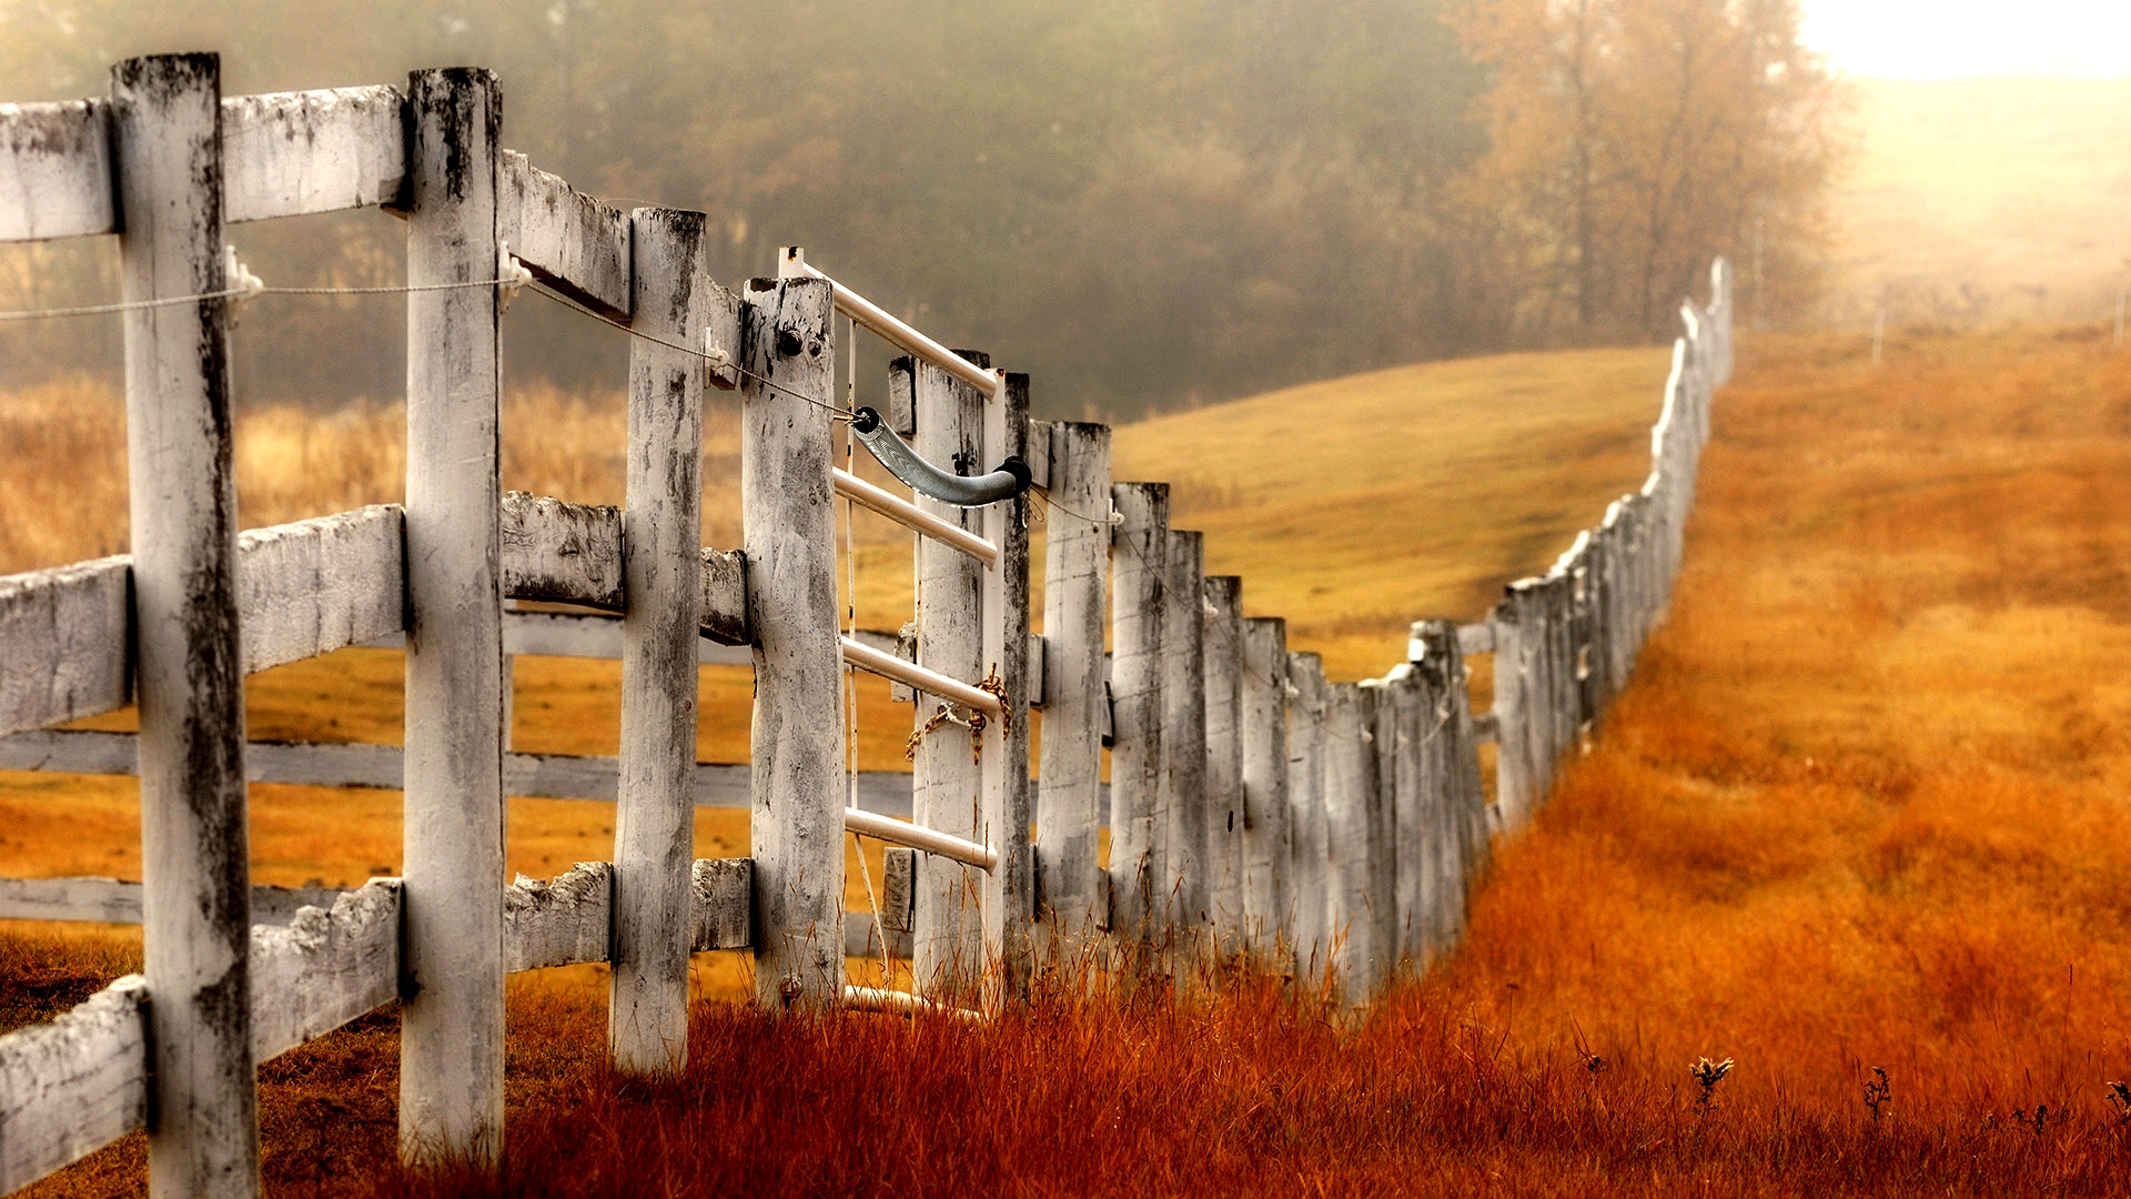
[[[0,1193],[147,1120],[147,979],[126,975],[49,1024],[0,1037]]]

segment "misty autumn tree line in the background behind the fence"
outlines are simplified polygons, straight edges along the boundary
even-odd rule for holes
[[[780,243],[1053,414],[1129,416],[1500,348],[1669,335],[1713,254],[1813,299],[1839,83],[1794,0],[0,0],[0,94],[217,49],[228,92],[492,66],[505,143],[624,207]],[[390,284],[396,222],[234,230],[269,282]],[[0,307],[115,292],[111,245],[4,247]],[[511,378],[624,341],[520,301]],[[281,301],[251,395],[403,386],[403,305]],[[115,369],[115,322],[0,331],[0,382]],[[869,375],[861,373],[861,380]]]

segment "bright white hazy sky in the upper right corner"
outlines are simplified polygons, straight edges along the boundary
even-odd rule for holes
[[[1805,43],[1850,75],[2131,75],[2127,0],[1805,0]]]

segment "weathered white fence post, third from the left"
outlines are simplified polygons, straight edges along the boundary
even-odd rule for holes
[[[622,1073],[688,1065],[688,868],[695,862],[697,636],[703,608],[703,363],[725,297],[703,213],[631,226],[629,506],[622,508],[622,757],[614,811],[607,1045]],[[652,337],[656,341],[652,341]]]

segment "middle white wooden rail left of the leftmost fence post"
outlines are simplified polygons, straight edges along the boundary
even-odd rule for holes
[[[128,557],[0,578],[0,734],[126,706],[130,614]]]

